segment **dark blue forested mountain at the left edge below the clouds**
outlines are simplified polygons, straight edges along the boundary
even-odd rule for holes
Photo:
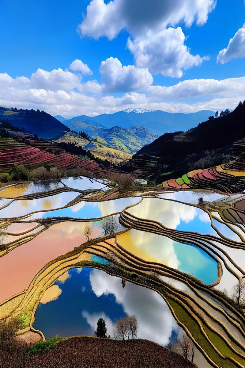
[[[44,139],[57,139],[68,130],[59,120],[39,110],[10,110],[0,107],[0,123],[1,121],[8,121],[20,130],[24,128],[26,132]]]

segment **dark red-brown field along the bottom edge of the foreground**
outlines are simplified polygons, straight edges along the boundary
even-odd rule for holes
[[[194,368],[176,353],[148,340],[73,337],[38,355],[1,353],[1,368]]]

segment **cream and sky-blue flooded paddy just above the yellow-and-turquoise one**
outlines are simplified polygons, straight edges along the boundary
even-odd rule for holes
[[[169,229],[216,234],[206,212],[183,203],[144,198],[140,204],[128,209],[128,212],[140,218],[158,221]]]

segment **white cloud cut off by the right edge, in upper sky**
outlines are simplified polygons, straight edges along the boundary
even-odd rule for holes
[[[245,57],[245,24],[230,39],[227,48],[220,50],[217,62],[220,61],[221,64],[224,64],[238,57]]]

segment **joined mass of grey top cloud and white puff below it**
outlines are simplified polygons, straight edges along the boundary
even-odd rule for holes
[[[126,29],[133,37],[127,46],[138,67],[148,68],[152,74],[181,77],[183,69],[198,66],[208,57],[192,55],[184,45],[182,29],[169,26],[180,21],[187,26],[193,22],[203,25],[215,6],[216,0],[114,0],[107,4],[92,0],[78,32],[112,40]]]

